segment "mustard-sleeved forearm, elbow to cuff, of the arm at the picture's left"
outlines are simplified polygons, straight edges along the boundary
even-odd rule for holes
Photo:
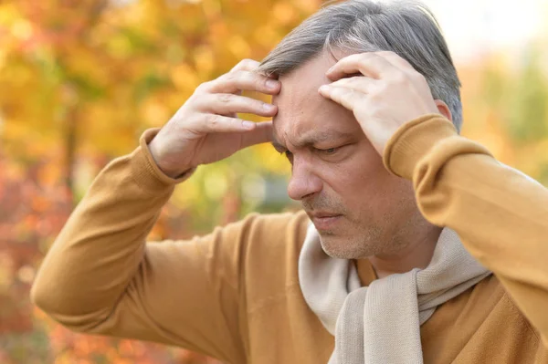
[[[107,317],[137,272],[175,182],[142,146],[100,172],[40,267],[32,298],[53,317]]]

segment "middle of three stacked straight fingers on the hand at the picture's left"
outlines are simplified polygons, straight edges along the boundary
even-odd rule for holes
[[[203,95],[196,100],[196,109],[220,115],[248,113],[264,117],[272,117],[278,112],[275,105],[233,94]]]

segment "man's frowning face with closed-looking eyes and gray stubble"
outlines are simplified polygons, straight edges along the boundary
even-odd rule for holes
[[[411,182],[385,170],[351,111],[318,93],[334,63],[322,53],[279,78],[273,144],[292,164],[288,192],[302,203],[329,255],[395,253],[424,220]]]

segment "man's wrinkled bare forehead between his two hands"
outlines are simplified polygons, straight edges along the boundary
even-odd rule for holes
[[[330,83],[325,73],[335,62],[329,54],[321,53],[279,78],[281,90],[272,98],[272,103],[278,106],[273,120],[275,141],[297,145],[304,135],[310,138],[311,134],[320,137],[333,131],[349,133],[359,127],[352,112],[318,93],[321,85]]]

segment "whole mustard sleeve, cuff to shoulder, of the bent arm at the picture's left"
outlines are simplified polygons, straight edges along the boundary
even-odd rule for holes
[[[147,148],[112,161],[71,214],[31,297],[62,325],[245,362],[241,253],[255,216],[189,241],[146,243],[174,185]],[[182,186],[184,188],[184,184]]]

